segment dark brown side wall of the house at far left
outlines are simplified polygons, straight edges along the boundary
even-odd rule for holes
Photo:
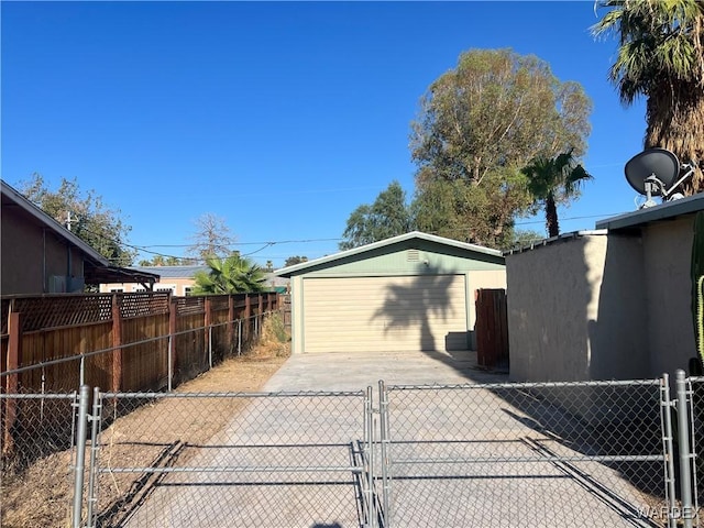
[[[1,215],[2,295],[51,293],[62,280],[68,292],[66,277],[84,277],[78,249],[69,250],[70,244],[16,207],[2,207]]]

